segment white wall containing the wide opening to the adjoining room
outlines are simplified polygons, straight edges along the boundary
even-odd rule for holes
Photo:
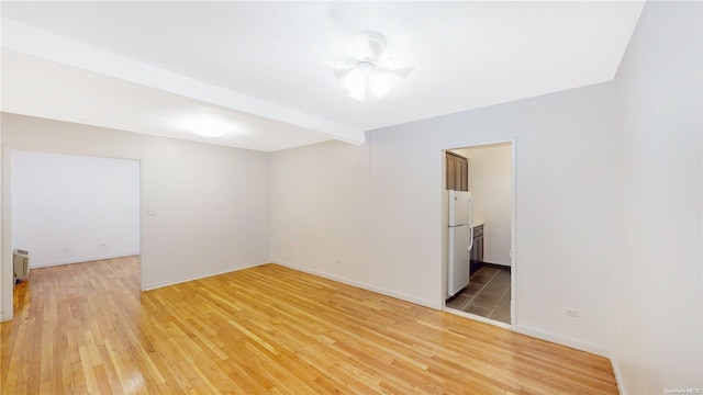
[[[268,261],[267,154],[7,113],[2,132],[10,151],[141,160],[144,289]]]

